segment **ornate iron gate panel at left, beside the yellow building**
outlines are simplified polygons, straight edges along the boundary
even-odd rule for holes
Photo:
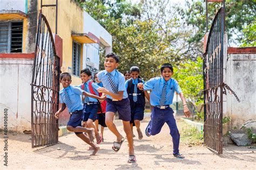
[[[58,142],[59,57],[45,16],[38,17],[35,60],[31,83],[32,147]]]

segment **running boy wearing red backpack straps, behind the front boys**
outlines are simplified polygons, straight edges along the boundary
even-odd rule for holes
[[[96,96],[99,96],[97,89],[99,86],[97,83],[91,82],[91,71],[88,68],[85,68],[80,71],[80,77],[82,79],[82,84],[80,84],[78,87],[80,87],[82,90],[86,91],[90,94],[95,94]],[[87,128],[93,128],[95,129],[95,135],[97,144],[100,144],[102,142],[102,136],[97,131],[95,125],[93,122],[95,122],[97,118],[97,112],[99,109],[99,101],[96,98],[92,97],[84,97],[84,109],[83,109],[83,122],[82,126]]]

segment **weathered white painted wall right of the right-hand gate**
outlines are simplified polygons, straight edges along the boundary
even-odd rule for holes
[[[250,119],[256,121],[256,54],[228,54],[227,57],[226,83],[241,102],[227,94],[226,114],[231,117],[232,126],[241,128]]]

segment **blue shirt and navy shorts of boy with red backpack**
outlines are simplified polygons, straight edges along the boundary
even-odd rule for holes
[[[83,90],[86,91],[87,93],[91,93],[90,89],[89,89],[89,83],[90,80],[88,80],[87,82],[80,84],[78,87],[79,88],[84,88]],[[95,94],[97,96],[99,96],[97,89],[100,88],[97,83],[92,83],[92,89],[95,92]],[[88,97],[85,96],[84,98],[84,108],[83,108],[83,121],[88,121],[88,119],[92,119],[92,121],[94,122],[97,119],[97,112],[99,109],[99,101],[96,98],[92,98],[92,97]]]

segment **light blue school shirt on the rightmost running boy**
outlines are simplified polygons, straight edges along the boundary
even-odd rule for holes
[[[155,77],[150,79],[144,84],[144,90],[152,90],[150,93],[150,104],[153,106],[159,105],[162,89],[164,87],[164,78]],[[166,84],[166,100],[165,105],[172,104],[174,91],[177,91],[180,94],[182,91],[179,87],[179,84],[176,80],[170,79]]]

